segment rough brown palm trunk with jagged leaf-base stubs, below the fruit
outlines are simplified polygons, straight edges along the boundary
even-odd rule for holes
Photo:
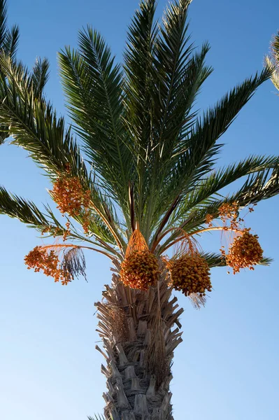
[[[147,292],[125,287],[115,272],[96,303],[104,348],[96,349],[106,358],[106,419],[173,420],[169,385],[183,309],[171,298],[166,271]]]

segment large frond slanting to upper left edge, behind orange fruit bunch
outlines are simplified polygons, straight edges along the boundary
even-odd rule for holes
[[[65,127],[63,118],[57,118],[51,104],[43,98],[34,97],[32,81],[26,69],[16,66],[9,57],[1,57],[1,63],[8,79],[0,76],[0,123],[9,125],[8,134],[13,137],[12,143],[26,149],[52,181],[59,174],[65,174],[66,165],[70,165],[71,175],[78,176],[82,185],[92,192],[99,228],[103,226],[106,232],[106,225],[112,225],[115,236],[120,237],[117,220],[110,212],[113,206],[94,187],[71,129]]]

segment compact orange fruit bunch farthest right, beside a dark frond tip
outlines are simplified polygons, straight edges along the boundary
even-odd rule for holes
[[[244,229],[242,234],[234,239],[226,255],[227,265],[234,270],[234,274],[241,268],[254,269],[253,265],[262,260],[263,250],[258,238],[250,233],[250,229]]]

